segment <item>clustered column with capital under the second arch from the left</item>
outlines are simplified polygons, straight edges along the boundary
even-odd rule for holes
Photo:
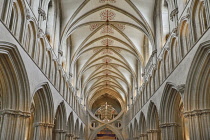
[[[34,140],[52,140],[52,130],[54,124],[35,123]]]

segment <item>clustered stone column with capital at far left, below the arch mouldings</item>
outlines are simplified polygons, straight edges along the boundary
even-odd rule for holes
[[[1,140],[24,140],[27,137],[27,119],[29,112],[19,110],[0,111],[0,139]]]

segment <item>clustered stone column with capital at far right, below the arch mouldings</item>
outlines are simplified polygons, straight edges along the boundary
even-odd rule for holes
[[[184,113],[186,138],[190,140],[210,139],[210,109],[193,110]]]

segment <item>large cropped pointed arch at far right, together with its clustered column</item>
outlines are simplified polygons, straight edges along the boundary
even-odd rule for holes
[[[191,64],[184,94],[185,117],[188,121],[189,139],[209,139],[205,131],[210,126],[210,42],[200,45]],[[196,121],[196,120],[199,120]],[[205,121],[207,120],[207,121]],[[201,126],[200,124],[203,124]],[[193,131],[197,129],[197,131]]]

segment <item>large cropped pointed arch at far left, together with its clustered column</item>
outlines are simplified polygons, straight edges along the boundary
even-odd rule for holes
[[[17,47],[0,42],[0,139],[15,139],[15,135],[9,135],[5,130],[15,132],[19,138],[26,135],[25,121],[30,116],[29,88],[27,72]],[[13,118],[12,122],[10,118]],[[24,127],[19,128],[18,122]]]

